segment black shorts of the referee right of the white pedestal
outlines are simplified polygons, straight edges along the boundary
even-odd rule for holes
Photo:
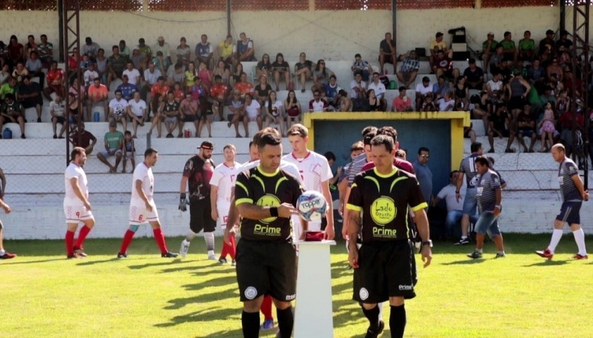
[[[363,243],[359,249],[360,268],[354,269],[352,299],[382,303],[393,296],[414,298],[414,259],[410,241]]]

